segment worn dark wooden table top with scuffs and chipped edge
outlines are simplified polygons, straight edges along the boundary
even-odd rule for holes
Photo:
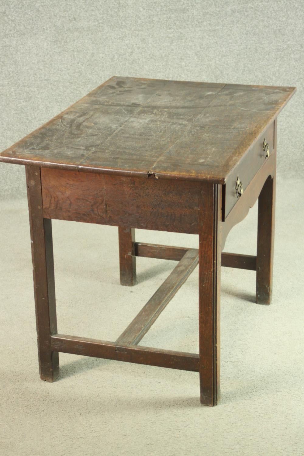
[[[294,92],[114,76],[0,161],[225,183]]]

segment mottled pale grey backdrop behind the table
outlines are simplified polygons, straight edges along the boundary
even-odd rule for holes
[[[303,5],[289,0],[2,0],[0,150],[113,75],[296,86],[278,172],[303,166]],[[25,196],[0,164],[0,198]]]

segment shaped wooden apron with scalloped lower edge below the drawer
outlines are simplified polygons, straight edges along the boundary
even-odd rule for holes
[[[226,239],[230,230],[247,216],[249,209],[254,206],[262,191],[263,185],[268,178],[275,173],[276,169],[276,151],[265,160],[260,171],[253,177],[245,192],[232,208],[224,223],[222,223],[222,248],[224,248]]]

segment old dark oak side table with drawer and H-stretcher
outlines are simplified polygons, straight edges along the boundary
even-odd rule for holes
[[[0,154],[26,166],[40,377],[58,352],[200,373],[201,403],[220,397],[220,271],[256,270],[272,291],[277,115],[294,87],[113,77]],[[222,252],[258,199],[257,255]],[[120,282],[135,258],[177,266],[115,342],[57,331],[52,218],[119,227]],[[135,241],[134,228],[199,235],[199,249]],[[139,346],[199,264],[199,354]]]

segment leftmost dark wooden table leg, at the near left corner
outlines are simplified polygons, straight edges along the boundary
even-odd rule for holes
[[[43,218],[40,168],[26,166],[26,184],[31,228],[34,295],[39,373],[53,382],[59,375],[58,352],[51,350],[51,335],[57,333],[52,221]]]

